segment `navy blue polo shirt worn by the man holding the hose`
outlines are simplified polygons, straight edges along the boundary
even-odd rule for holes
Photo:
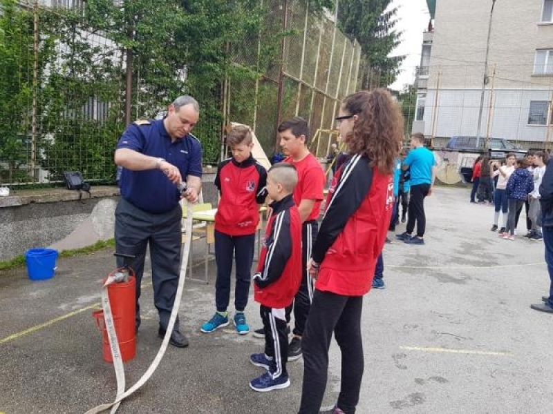
[[[182,179],[186,179],[187,175],[202,176],[200,141],[189,134],[171,142],[163,119],[140,126],[131,124],[119,139],[117,148],[129,148],[144,155],[164,158],[178,167]],[[123,168],[119,186],[126,201],[150,213],[171,211],[180,199],[177,187],[162,170],[131,171]]]

